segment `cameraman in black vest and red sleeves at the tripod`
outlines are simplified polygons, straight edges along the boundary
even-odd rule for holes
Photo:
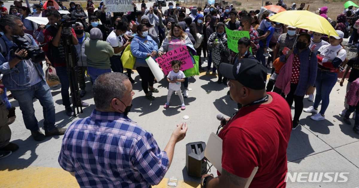
[[[66,69],[65,49],[63,42],[61,40],[61,32],[62,29],[64,29],[63,28],[64,21],[62,21],[59,11],[56,10],[48,11],[46,13],[46,16],[48,19],[48,23],[50,24],[48,28],[43,30],[43,34],[45,36],[45,42],[48,45],[46,56],[50,60],[52,66],[55,67],[57,76],[59,76],[60,78],[62,104],[65,106],[66,115],[74,116],[74,111],[71,109],[71,103],[70,103],[70,95],[69,95],[70,82]],[[79,41],[76,38],[76,33],[73,28],[70,29],[72,33],[72,42],[74,45],[77,45]],[[88,106],[88,103],[81,102],[81,106],[82,107]]]

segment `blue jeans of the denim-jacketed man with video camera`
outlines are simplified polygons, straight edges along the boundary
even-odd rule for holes
[[[11,93],[19,102],[26,129],[31,132],[39,130],[33,97],[36,97],[42,106],[45,131],[55,129],[55,106],[53,105],[50,87],[45,81],[41,80],[27,90],[11,90]]]

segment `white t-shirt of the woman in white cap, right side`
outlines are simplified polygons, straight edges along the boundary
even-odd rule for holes
[[[333,61],[334,58],[340,58],[341,61],[344,61],[346,58],[346,51],[342,49],[341,45],[332,46],[331,44],[323,45],[318,49],[320,52],[320,57],[323,58],[322,63]],[[340,50],[342,49],[342,50]],[[340,51],[339,51],[340,50]],[[339,53],[338,53],[339,51]]]

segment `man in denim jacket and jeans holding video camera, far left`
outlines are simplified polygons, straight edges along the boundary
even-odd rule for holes
[[[18,45],[12,41],[11,35],[19,35],[28,40],[27,45],[37,47],[33,37],[24,33],[25,29],[18,16],[0,18],[0,30],[5,34],[0,38],[0,71],[4,74],[4,86],[18,100],[26,129],[31,131],[36,141],[42,141],[45,136],[63,135],[66,129],[55,127],[55,106],[41,65],[32,59],[25,59],[28,57],[27,50],[18,49]],[[34,97],[43,107],[45,135],[40,131],[35,117]]]

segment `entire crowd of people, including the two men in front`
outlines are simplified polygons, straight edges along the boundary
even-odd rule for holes
[[[271,4],[266,2],[266,5]],[[327,17],[327,7],[320,8],[320,16],[328,20],[338,34],[328,36],[271,21],[270,17],[275,13],[265,8],[249,12],[237,11],[233,5],[222,6],[221,3],[208,4],[203,9],[191,6],[189,14],[186,13],[186,7],[173,2],[168,3],[169,9],[162,11],[160,4],[147,6],[143,1],[138,9],[133,1],[133,11],[128,13],[107,13],[103,1],[95,8],[91,0],[88,0],[84,7],[87,11],[74,2],[70,2],[67,9],[61,1],[53,0],[44,4],[33,4],[32,11],[30,7],[22,6],[22,0],[15,0],[9,11],[2,6],[2,1],[0,5],[0,71],[3,84],[0,85],[0,107],[4,120],[0,125],[1,155],[9,155],[19,148],[10,142],[11,131],[8,125],[14,122],[16,117],[15,108],[11,107],[6,95],[6,91],[11,91],[11,95],[19,103],[25,127],[31,131],[34,140],[42,141],[48,136],[64,135],[66,132],[59,163],[76,177],[81,187],[96,184],[104,187],[127,187],[129,184],[150,187],[162,180],[172,162],[174,145],[184,138],[187,125],[179,124],[168,145],[161,151],[153,135],[127,117],[134,95],[132,85],[137,84],[131,75],[132,69],[135,69],[141,78],[144,97],[155,100],[153,93],[159,92],[154,87],[157,80],[146,59],[163,57],[165,53],[183,45],[187,47],[191,57],[200,56],[198,62],[194,62],[198,63],[201,71],[218,74],[217,83],[229,86],[228,95],[238,103],[238,111],[228,121],[228,125],[223,125],[219,134],[225,145],[223,158],[226,160],[223,160],[222,175],[219,174],[219,178],[204,175],[201,182],[203,187],[238,185],[248,180],[253,168],[272,163],[279,164],[278,168],[267,165],[260,169],[252,181],[253,185],[285,186],[284,156],[290,131],[300,125],[302,111],[314,113],[312,120],[325,119],[331,90],[337,81],[338,73],[344,71],[346,63],[348,66],[340,82],[341,86],[350,69],[351,73],[347,84],[348,93],[343,97],[345,109],[340,115],[344,116],[345,123],[351,124],[349,116],[356,110],[353,115],[353,130],[359,133],[359,116],[356,115],[359,113],[359,62],[358,57],[349,60],[346,58],[346,50],[342,44],[343,38],[349,36],[350,27],[353,29],[349,43],[353,47],[358,47],[359,44],[359,11],[353,10],[353,6],[339,14],[336,21]],[[306,6],[301,3],[297,8],[293,3],[288,8],[283,0],[278,0],[276,5],[287,11],[305,10]],[[69,11],[70,20],[73,21],[70,29],[65,28],[65,21],[59,10]],[[28,16],[46,17],[48,24],[37,24],[26,19]],[[55,106],[50,87],[46,83],[42,62],[33,62],[28,58],[28,51],[18,49],[11,37],[19,35],[29,45],[42,44],[46,53],[44,62],[56,69],[60,80],[65,113],[74,116],[69,88],[75,86],[69,81],[66,44],[61,37],[65,29],[70,30],[72,50],[76,52],[79,97],[84,97],[87,92],[85,77],[88,74],[93,84],[92,93],[96,107],[88,118],[75,121],[67,131],[55,127]],[[238,40],[238,53],[228,48],[226,29],[249,33],[249,38]],[[121,60],[126,50],[130,50],[134,57],[132,69],[124,68],[123,64],[126,62]],[[181,100],[181,110],[185,110],[185,98],[189,95],[188,76],[180,70],[181,61],[169,63],[172,71],[165,75],[169,85],[167,101],[163,101],[163,107],[169,107],[171,96],[176,92]],[[204,63],[207,63],[207,67],[202,66]],[[269,80],[266,69],[271,69]],[[308,100],[314,101],[314,104],[303,109],[305,95],[308,95]],[[45,134],[39,129],[34,115],[33,98],[37,98],[43,107]],[[289,107],[292,107],[293,102],[292,119]],[[320,103],[321,109],[318,111]],[[286,104],[288,108],[283,108]],[[89,106],[86,102],[72,105]],[[267,113],[268,109],[278,110],[276,112],[279,114]],[[259,115],[270,128],[263,128],[258,124],[256,117]],[[276,120],[272,121],[273,119]],[[247,123],[242,125],[242,122]],[[99,132],[98,126],[106,128]],[[238,127],[241,129],[237,129]],[[276,132],[283,134],[278,135]],[[125,139],[123,135],[126,135]],[[101,138],[96,142],[91,140],[98,137]],[[252,138],[258,138],[257,143]],[[236,143],[247,144],[244,144],[246,147],[238,147]],[[268,146],[268,143],[273,145]],[[255,145],[276,149],[260,153],[262,151],[251,148]],[[87,153],[78,152],[78,147],[83,147]],[[108,155],[102,155],[103,152],[108,152]],[[248,163],[234,162],[230,157],[233,153]],[[118,155],[125,157],[118,159]],[[274,155],[277,157],[270,157]],[[80,158],[88,159],[89,164],[78,160]],[[121,165],[118,165],[119,163]],[[94,168],[97,173],[94,173]],[[243,170],[239,172],[238,169]],[[121,177],[121,180],[118,180],[118,177]],[[226,181],[225,178],[232,181]],[[269,184],[272,186],[268,186]]]

